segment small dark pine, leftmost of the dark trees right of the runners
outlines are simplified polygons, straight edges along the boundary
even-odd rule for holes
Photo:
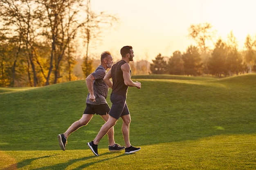
[[[164,61],[164,57],[159,53],[155,60],[152,60],[153,64],[150,64],[150,71],[152,74],[167,74],[167,63]]]

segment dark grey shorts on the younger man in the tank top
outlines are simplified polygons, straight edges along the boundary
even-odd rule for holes
[[[111,94],[110,101],[112,102],[111,109],[108,113],[110,116],[119,119],[119,117],[130,114],[126,104],[126,96]]]

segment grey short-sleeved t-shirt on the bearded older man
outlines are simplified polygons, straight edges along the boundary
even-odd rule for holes
[[[95,96],[95,100],[96,102],[92,102],[89,99],[89,95],[88,94],[87,98],[86,98],[86,103],[88,104],[94,104],[94,105],[99,105],[99,104],[108,104],[106,101],[106,98],[108,96],[108,85],[104,82],[103,78],[104,76],[107,74],[106,69],[99,65],[96,70],[91,73],[94,77],[94,81],[93,81],[93,93]]]

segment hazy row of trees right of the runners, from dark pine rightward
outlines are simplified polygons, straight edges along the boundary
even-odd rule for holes
[[[171,57],[161,54],[150,64],[151,74],[228,76],[256,71],[256,40],[247,35],[245,50],[238,51],[236,37],[231,31],[227,42],[221,38],[209,49],[207,41],[213,42],[216,31],[209,23],[191,25],[189,36],[198,46],[189,46],[183,54],[175,51]]]

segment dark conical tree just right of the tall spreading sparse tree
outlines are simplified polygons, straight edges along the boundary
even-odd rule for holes
[[[213,50],[212,56],[208,62],[209,73],[212,75],[222,74],[227,75],[226,61],[227,61],[227,45],[219,39],[216,42],[215,48]]]

